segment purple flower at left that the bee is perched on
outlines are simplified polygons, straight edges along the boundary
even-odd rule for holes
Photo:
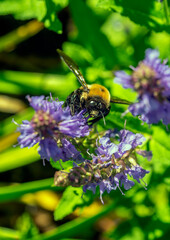
[[[83,111],[72,116],[69,107],[62,108],[63,102],[44,96],[27,98],[35,114],[31,121],[23,121],[17,129],[21,133],[18,137],[21,148],[30,148],[38,143],[42,159],[82,162],[80,152],[70,139],[89,134]]]

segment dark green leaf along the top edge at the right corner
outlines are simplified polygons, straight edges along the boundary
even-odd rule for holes
[[[112,9],[150,30],[170,32],[170,26],[165,24],[163,9],[155,0],[98,0],[97,6]]]

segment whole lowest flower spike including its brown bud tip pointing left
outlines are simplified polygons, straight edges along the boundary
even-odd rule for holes
[[[86,160],[81,165],[75,165],[70,172],[56,172],[54,184],[57,186],[83,186],[83,191],[93,191],[96,187],[102,194],[117,188],[125,190],[134,186],[134,180],[144,182],[143,177],[149,172],[141,168],[137,163],[136,154],[151,158],[151,152],[138,150],[138,146],[145,141],[141,134],[134,134],[128,130],[109,131],[100,138],[96,154],[92,154],[92,160]],[[129,179],[131,177],[132,179]]]

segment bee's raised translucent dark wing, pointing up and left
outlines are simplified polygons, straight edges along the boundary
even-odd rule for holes
[[[86,83],[83,75],[81,74],[80,69],[77,66],[77,64],[60,49],[57,49],[57,52],[60,55],[61,59],[67,64],[69,69],[75,74],[76,78],[79,80],[79,82],[83,86],[84,90],[88,91],[87,83]]]

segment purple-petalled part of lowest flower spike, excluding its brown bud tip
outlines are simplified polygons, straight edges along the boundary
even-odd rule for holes
[[[111,136],[111,138],[109,137]],[[134,186],[134,181],[138,183],[143,181],[144,176],[149,171],[144,170],[139,166],[136,159],[136,154],[151,158],[151,152],[136,149],[145,141],[141,134],[134,134],[128,130],[108,131],[104,137],[99,140],[99,146],[96,150],[96,155],[92,155],[93,162],[91,163],[90,181],[83,186],[83,191],[93,191],[96,187],[100,189],[100,199],[102,194],[107,191],[117,188],[124,195],[121,187],[125,190]]]

